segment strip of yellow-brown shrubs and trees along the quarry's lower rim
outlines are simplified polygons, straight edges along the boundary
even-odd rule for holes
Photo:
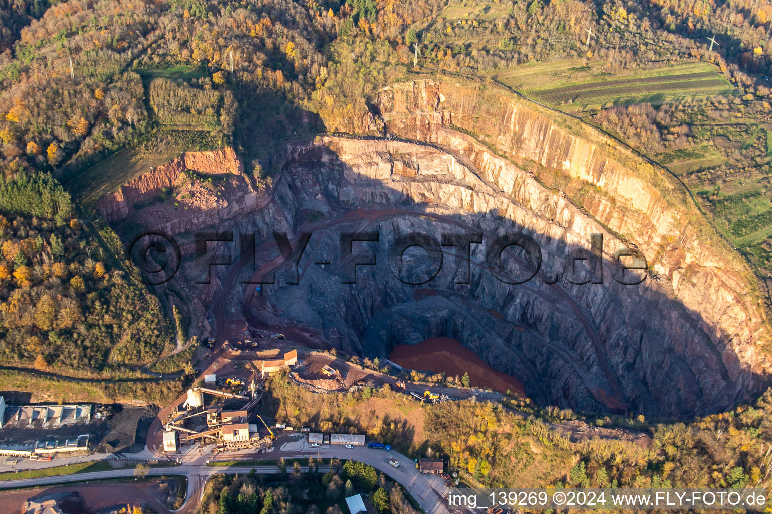
[[[768,487],[772,391],[753,406],[692,423],[628,420],[648,435],[571,441],[557,411],[520,415],[489,401],[427,405],[388,388],[314,395],[276,376],[271,415],[325,432],[366,433],[413,457],[440,455],[468,482],[487,487]],[[514,405],[516,406],[516,405]],[[613,420],[597,422],[608,426]]]

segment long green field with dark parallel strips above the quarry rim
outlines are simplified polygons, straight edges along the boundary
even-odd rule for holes
[[[571,109],[587,106],[620,106],[648,102],[662,104],[680,99],[732,95],[735,89],[706,62],[669,66],[631,74],[624,78],[591,80],[569,86],[532,89],[527,96],[550,106]]]

